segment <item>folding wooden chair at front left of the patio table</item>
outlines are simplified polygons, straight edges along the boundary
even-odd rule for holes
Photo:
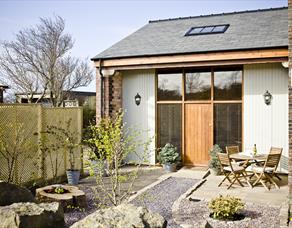
[[[230,183],[227,189],[231,188],[235,182],[239,183],[243,187],[243,184],[240,181],[241,177],[243,177],[251,187],[251,184],[246,178],[244,167],[239,166],[236,163],[232,164],[228,154],[218,153],[217,157],[220,163],[221,172],[225,176],[224,179],[218,184],[218,187],[220,187],[225,180],[228,180]]]

